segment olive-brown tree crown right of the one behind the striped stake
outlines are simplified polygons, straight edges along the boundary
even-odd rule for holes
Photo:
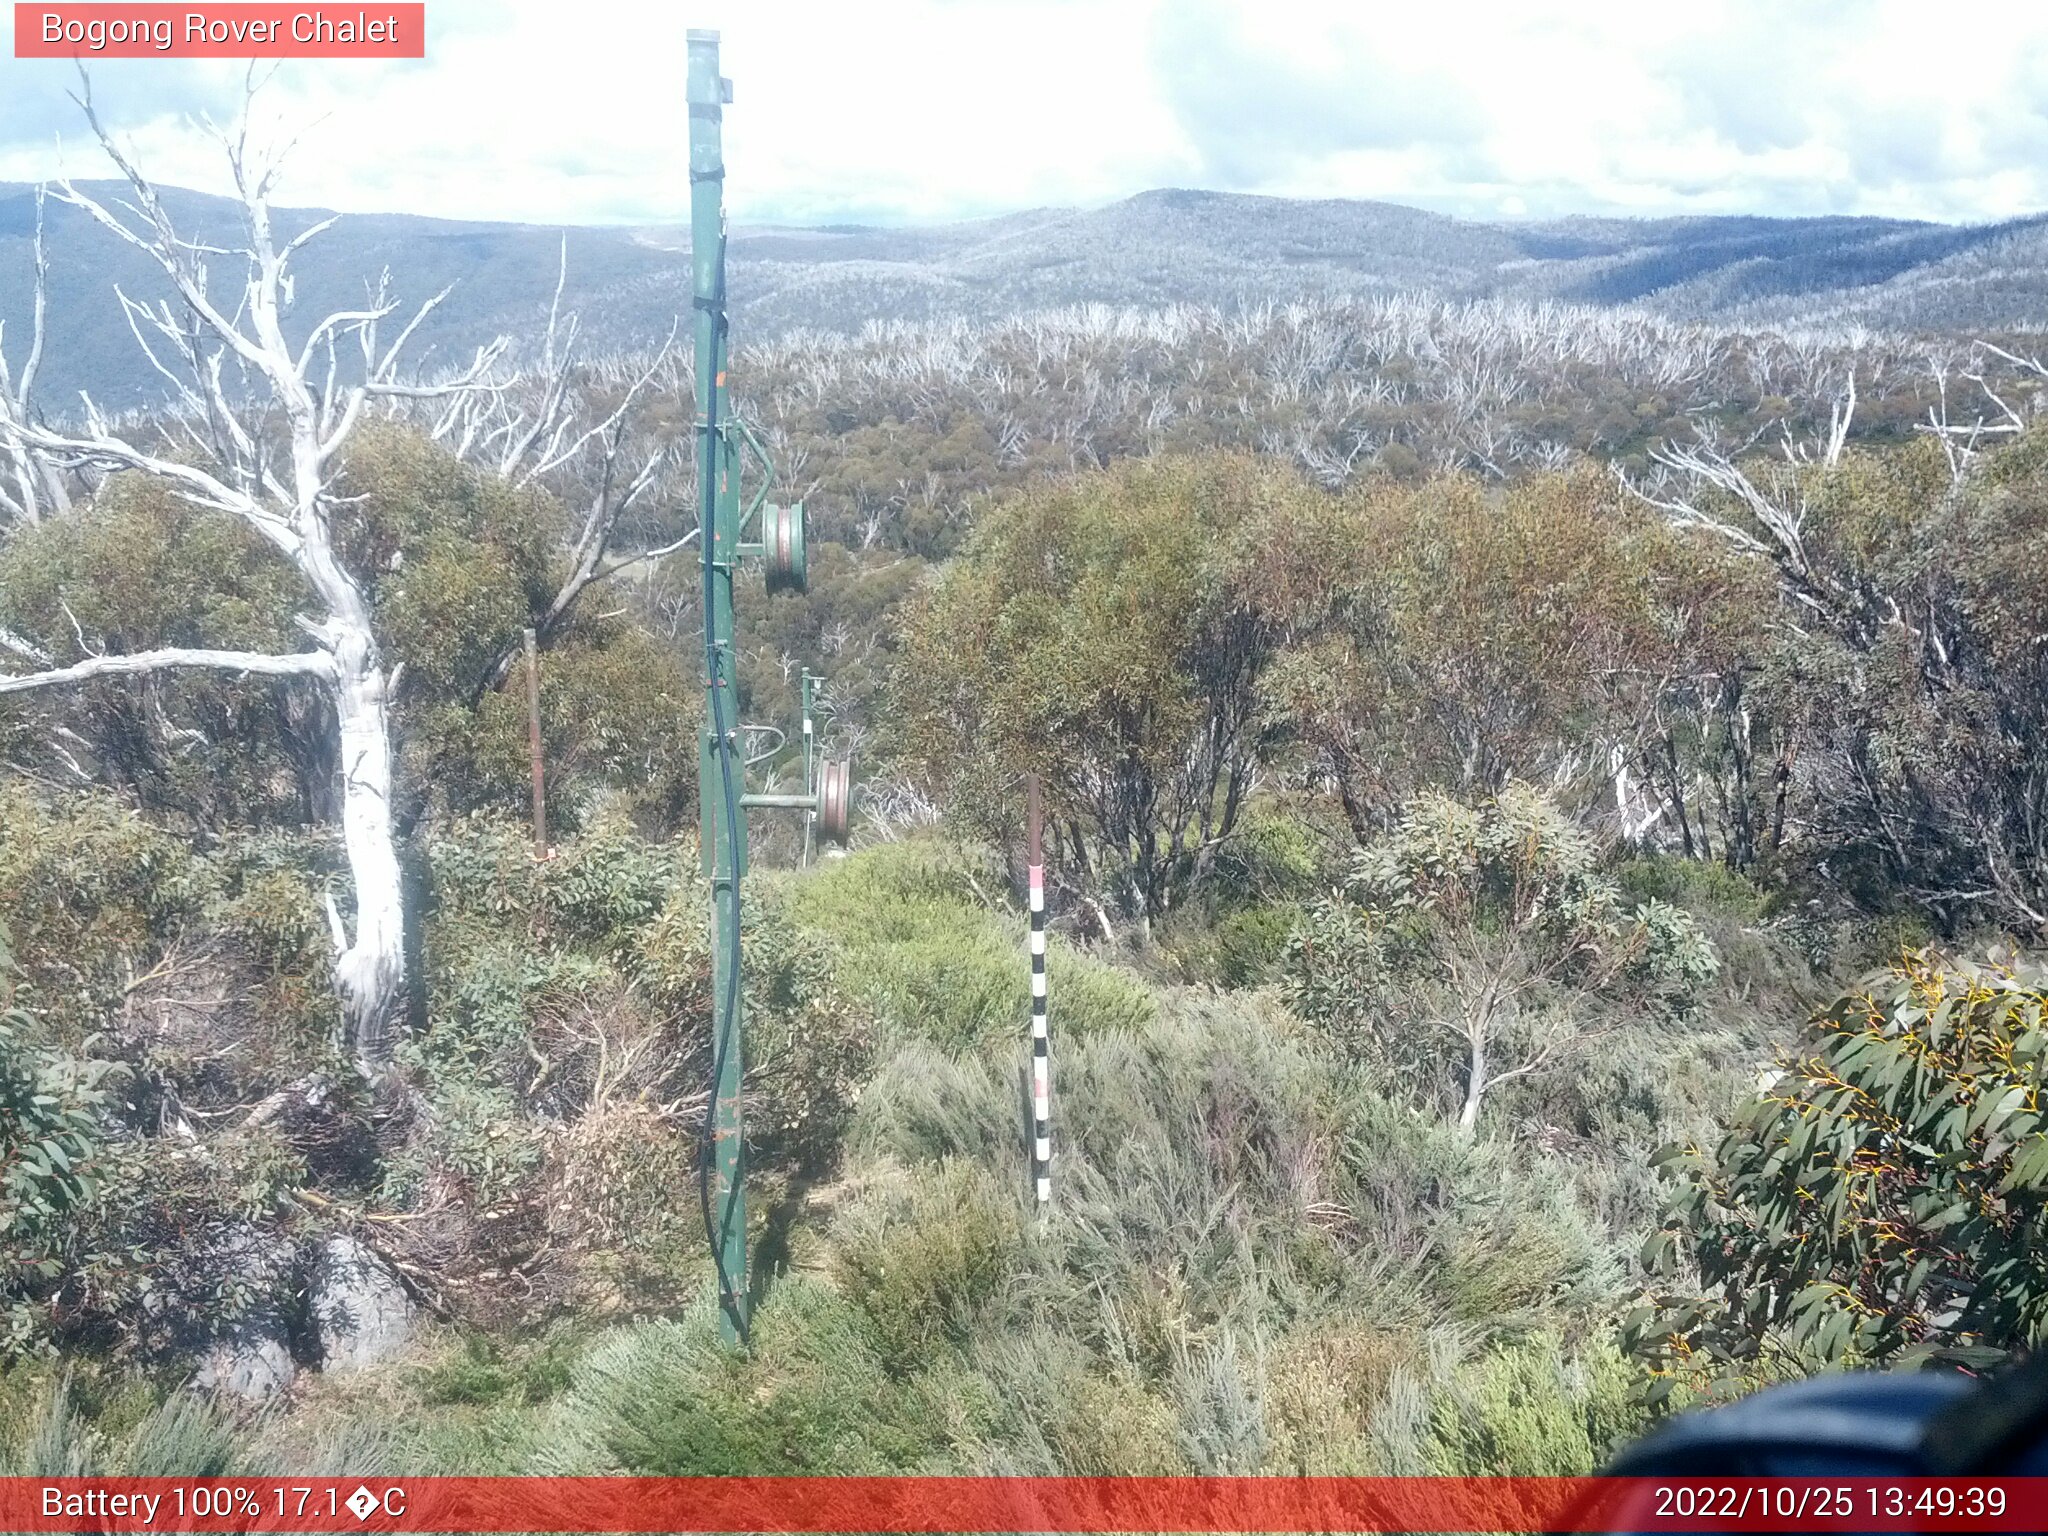
[[[1366,485],[1333,545],[1317,567],[1333,623],[1276,664],[1272,692],[1360,842],[1421,788],[1606,793],[1616,752],[1649,776],[1772,602],[1767,580],[1587,471]],[[1686,791],[1663,793],[1686,821]]]

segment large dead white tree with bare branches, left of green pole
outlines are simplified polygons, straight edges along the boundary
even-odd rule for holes
[[[59,430],[31,418],[16,393],[0,397],[0,442],[16,461],[27,457],[45,475],[131,471],[162,481],[197,506],[240,518],[303,578],[309,610],[299,616],[299,627],[311,647],[289,653],[162,649],[86,655],[72,666],[0,674],[0,694],[172,668],[311,678],[326,688],[336,719],[342,842],[354,887],[352,932],[332,895],[328,899],[334,985],[348,1042],[362,1067],[377,1071],[391,1053],[406,977],[406,895],[391,825],[389,700],[397,670],[385,668],[365,582],[342,563],[334,526],[340,510],[336,457],[373,401],[444,399],[496,389],[489,377],[504,344],[479,348],[471,365],[453,377],[401,381],[399,354],[446,291],[428,299],[385,344],[381,326],[399,307],[389,297],[389,274],[371,289],[362,307],[317,319],[293,344],[285,330],[291,260],[334,221],[324,219],[279,240],[270,188],[281,154],[250,147],[254,96],[252,80],[240,129],[219,135],[244,215],[244,244],[227,250],[178,233],[156,188],[94,113],[90,82],[78,92],[76,100],[127,180],[131,199],[117,211],[70,182],[61,182],[55,195],[162,270],[168,299],[143,305],[119,291],[117,297],[143,354],[170,379],[182,410],[170,414],[174,436],[166,434],[170,440],[150,449],[117,432],[90,397],[84,399],[82,426]],[[215,291],[209,258],[246,264],[231,297]],[[344,350],[360,354],[350,356],[346,369],[340,360]],[[166,356],[182,367],[172,367]]]

